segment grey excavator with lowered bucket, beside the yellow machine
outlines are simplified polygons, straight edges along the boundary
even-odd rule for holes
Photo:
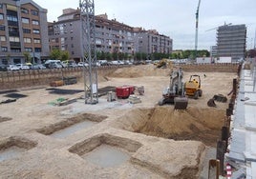
[[[182,83],[183,72],[179,70],[172,71],[170,75],[170,86],[163,90],[162,99],[159,105],[174,104],[174,109],[186,109],[187,97],[184,94],[184,85]]]

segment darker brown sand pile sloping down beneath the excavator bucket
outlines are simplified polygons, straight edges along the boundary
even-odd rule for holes
[[[197,140],[215,146],[224,124],[224,110],[156,108],[138,132],[175,140]]]

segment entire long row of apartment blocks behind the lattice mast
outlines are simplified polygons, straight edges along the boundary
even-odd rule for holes
[[[68,50],[72,59],[80,60],[82,38],[79,18],[78,9],[66,9],[57,22],[49,23],[50,50]],[[109,20],[107,14],[96,15],[96,51],[134,55],[136,52],[170,53],[171,50],[172,39],[160,35],[157,30],[141,30],[116,19]]]

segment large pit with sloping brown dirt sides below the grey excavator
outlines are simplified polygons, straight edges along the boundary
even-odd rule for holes
[[[114,127],[174,140],[196,140],[216,147],[224,124],[222,109],[174,110],[170,106],[134,109]]]

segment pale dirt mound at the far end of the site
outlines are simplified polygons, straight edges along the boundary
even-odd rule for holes
[[[137,78],[142,76],[166,76],[170,74],[170,71],[170,69],[158,69],[153,64],[150,64],[118,69],[110,77]]]

